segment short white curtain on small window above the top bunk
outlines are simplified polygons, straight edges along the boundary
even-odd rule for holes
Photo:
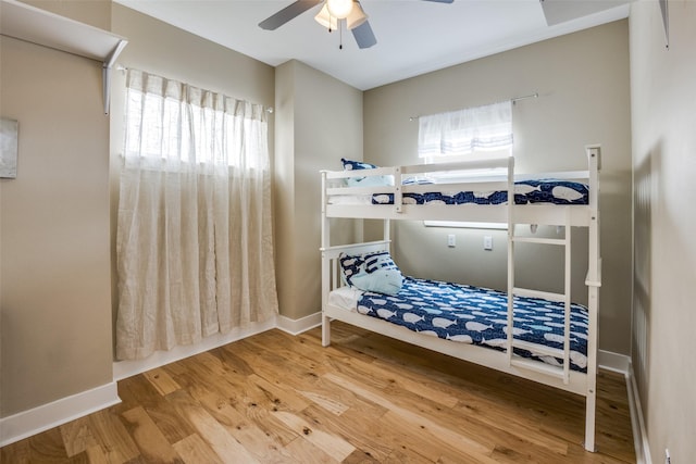
[[[512,147],[512,103],[505,101],[419,117],[421,158]]]

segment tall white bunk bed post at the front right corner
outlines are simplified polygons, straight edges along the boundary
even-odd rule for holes
[[[601,253],[599,247],[599,171],[601,149],[598,145],[585,147],[589,164],[589,243],[587,286],[587,390],[585,396],[585,449],[594,452],[595,415],[597,405],[597,330],[599,287],[601,286]]]

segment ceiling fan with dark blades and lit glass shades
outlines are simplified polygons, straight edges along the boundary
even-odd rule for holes
[[[455,0],[423,0],[437,3],[451,3]],[[358,47],[370,48],[377,39],[370,27],[368,15],[362,10],[358,0],[296,0],[277,13],[259,23],[259,27],[266,30],[275,30],[307,10],[322,3],[322,9],[314,16],[316,22],[328,30],[335,30],[339,21],[345,21],[346,27],[352,33]]]

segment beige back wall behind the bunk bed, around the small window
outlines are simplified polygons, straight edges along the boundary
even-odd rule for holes
[[[418,122],[409,122],[409,116],[533,92],[539,98],[520,101],[513,108],[520,172],[586,168],[584,146],[601,143],[599,348],[623,354],[629,353],[631,324],[627,38],[627,21],[620,21],[376,88],[364,96],[364,159],[376,164],[419,163]],[[457,236],[457,248],[447,248],[447,234]],[[394,235],[396,260],[407,274],[506,288],[505,231],[426,229],[412,222],[397,224]],[[483,250],[484,235],[493,236],[493,251]],[[580,302],[586,301],[584,237],[585,230],[573,233],[577,256],[573,299]],[[519,255],[521,267],[534,269],[526,283],[520,277],[520,284],[559,287],[562,261],[555,255],[538,260],[539,252],[527,249]]]

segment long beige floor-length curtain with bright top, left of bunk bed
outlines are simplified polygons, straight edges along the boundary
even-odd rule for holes
[[[277,314],[262,106],[127,74],[116,358]]]

